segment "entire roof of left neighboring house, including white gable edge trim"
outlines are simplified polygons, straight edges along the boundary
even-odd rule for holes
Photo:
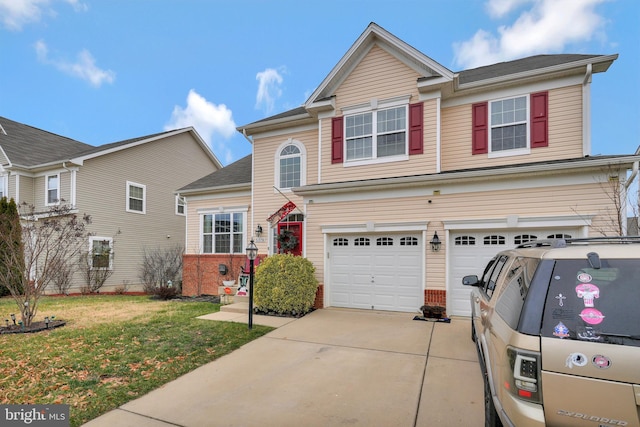
[[[154,133],[96,147],[0,117],[0,150],[8,162],[3,166],[8,167],[35,169],[62,162],[81,165],[87,159],[180,133],[191,133],[216,167],[222,168],[218,158],[193,127]]]

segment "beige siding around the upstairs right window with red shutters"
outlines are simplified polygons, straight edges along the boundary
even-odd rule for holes
[[[442,109],[442,170],[494,167],[582,157],[582,87],[549,91],[549,146],[490,159],[471,154],[471,104]]]

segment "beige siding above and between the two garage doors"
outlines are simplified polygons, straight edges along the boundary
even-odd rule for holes
[[[432,203],[428,203],[432,200]],[[544,203],[532,203],[544,200]],[[444,242],[444,220],[491,220],[504,219],[509,215],[523,217],[548,217],[569,215],[597,215],[591,229],[593,235],[615,234],[611,228],[612,212],[609,195],[600,184],[557,186],[544,188],[513,188],[501,191],[443,194],[424,197],[389,197],[382,200],[357,200],[347,202],[319,203],[308,205],[307,258],[316,267],[318,280],[323,280],[325,256],[323,251],[322,225],[428,222],[427,241],[437,231],[443,247],[433,253],[427,245],[426,286],[428,289],[444,289],[446,283]],[[366,212],[366,221],[363,219]],[[587,225],[585,221],[584,225]]]

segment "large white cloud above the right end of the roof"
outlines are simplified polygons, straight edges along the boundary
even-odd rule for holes
[[[489,0],[492,17],[503,17],[526,5],[511,25],[498,34],[480,29],[470,40],[454,43],[455,61],[474,68],[540,53],[562,52],[569,43],[589,41],[602,31],[605,19],[595,7],[607,0]]]

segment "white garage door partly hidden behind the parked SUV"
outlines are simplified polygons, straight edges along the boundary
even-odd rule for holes
[[[577,230],[504,231],[485,230],[450,234],[449,307],[447,314],[471,316],[471,288],[462,285],[464,276],[482,276],[496,253],[536,239],[575,237]]]

